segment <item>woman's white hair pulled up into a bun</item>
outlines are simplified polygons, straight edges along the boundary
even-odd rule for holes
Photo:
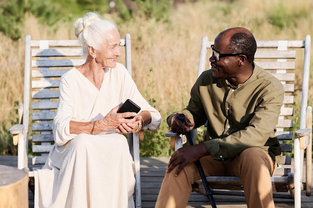
[[[116,29],[116,26],[105,19],[101,19],[95,12],[87,12],[83,17],[76,19],[74,23],[75,36],[82,46],[82,56],[88,56],[88,46],[95,50],[100,49],[100,45],[107,40],[108,32]]]

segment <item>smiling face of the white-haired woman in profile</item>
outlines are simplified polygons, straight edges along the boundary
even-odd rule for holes
[[[115,68],[116,58],[120,56],[120,36],[116,29],[112,29],[107,37],[100,49],[95,51],[95,62],[103,68]]]

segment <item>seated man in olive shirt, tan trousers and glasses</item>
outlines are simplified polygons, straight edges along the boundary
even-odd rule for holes
[[[200,179],[197,160],[205,176],[240,177],[248,208],[274,208],[270,176],[281,155],[274,133],[282,84],[253,63],[256,41],[249,30],[226,29],[211,48],[211,69],[196,80],[188,106],[167,118],[178,133],[207,121],[204,142],[173,153],[155,208],[186,207],[191,185]]]

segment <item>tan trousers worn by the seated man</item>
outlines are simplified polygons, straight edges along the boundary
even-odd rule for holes
[[[277,165],[260,148],[252,147],[238,156],[218,162],[211,156],[200,159],[205,176],[237,176],[244,187],[248,208],[274,208],[270,176]],[[178,166],[177,166],[178,167]],[[166,173],[155,208],[185,208],[191,194],[191,185],[200,179],[195,164],[185,166],[175,177],[177,169]]]

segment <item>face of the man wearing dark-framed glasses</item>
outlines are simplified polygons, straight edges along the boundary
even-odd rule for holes
[[[238,74],[239,54],[234,51],[228,51],[229,37],[227,35],[218,35],[212,45],[212,55],[209,58],[211,62],[212,75],[215,78],[233,78]],[[219,55],[219,60],[216,56]]]

